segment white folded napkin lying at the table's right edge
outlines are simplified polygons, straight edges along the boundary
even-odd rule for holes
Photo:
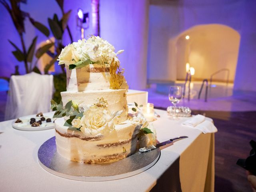
[[[218,131],[214,124],[211,121],[205,120],[205,116],[202,115],[193,116],[183,122],[182,125],[201,130],[204,134]]]

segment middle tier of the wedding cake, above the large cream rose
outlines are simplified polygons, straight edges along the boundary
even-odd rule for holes
[[[118,116],[114,123],[118,124],[127,120],[128,107],[126,100],[126,89],[106,89],[106,90],[87,90],[84,92],[61,92],[63,105],[72,100],[79,107],[84,109],[90,106],[96,105],[98,107],[107,108],[110,113],[118,112],[122,110],[120,116]]]

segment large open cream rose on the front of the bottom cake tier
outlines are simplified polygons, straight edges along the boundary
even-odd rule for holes
[[[85,135],[108,135],[114,131],[114,123],[108,110],[92,106],[83,114],[81,131]]]

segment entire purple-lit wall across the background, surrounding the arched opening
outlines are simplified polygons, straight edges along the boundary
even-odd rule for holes
[[[254,75],[256,60],[255,44],[256,1],[249,0],[100,0],[100,35],[113,44],[117,50],[124,49],[119,58],[126,69],[125,76],[130,88],[143,89],[148,80],[173,80],[174,68],[170,59],[169,40],[181,32],[204,24],[222,24],[236,30],[241,35],[241,44],[235,76],[234,89],[256,90]],[[65,0],[64,9],[72,9],[69,26],[74,38],[80,38],[76,28],[76,11],[82,8],[89,12],[90,28],[85,37],[92,34],[91,0]],[[48,26],[47,18],[54,13],[61,15],[54,0],[28,0],[22,5],[24,11]],[[3,6],[0,6],[0,76],[10,76],[18,62],[11,51],[14,49],[7,39],[20,46],[18,34]],[[28,47],[34,36],[38,42],[46,38],[26,21],[25,43]],[[64,34],[64,44],[70,43]],[[57,72],[59,67],[55,66]]]

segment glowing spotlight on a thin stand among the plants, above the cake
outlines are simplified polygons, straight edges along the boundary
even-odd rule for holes
[[[84,38],[84,30],[89,28],[89,13],[84,13],[82,9],[77,10],[76,26],[81,30],[81,38]]]

